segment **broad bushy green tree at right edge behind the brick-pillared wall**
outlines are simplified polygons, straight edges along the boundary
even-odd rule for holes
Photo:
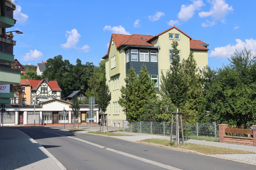
[[[217,123],[248,126],[256,120],[255,55],[244,49],[235,51],[230,64],[219,68],[205,89],[204,119]]]

